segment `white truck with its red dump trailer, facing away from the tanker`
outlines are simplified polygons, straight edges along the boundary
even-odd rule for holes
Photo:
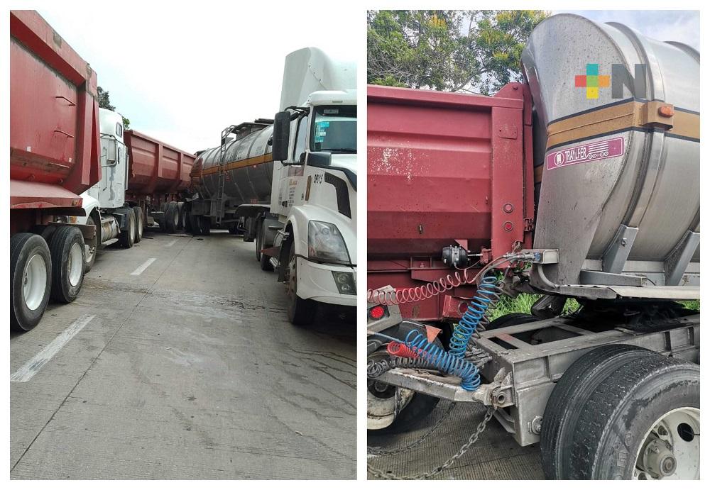
[[[175,233],[185,221],[180,191],[187,189],[195,156],[136,130],[124,130],[121,114],[99,108],[102,178],[82,194],[82,224],[95,225],[87,243],[86,271],[97,247],[119,243],[131,248],[158,223]]]

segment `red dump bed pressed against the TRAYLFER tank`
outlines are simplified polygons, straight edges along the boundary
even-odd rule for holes
[[[528,87],[495,96],[368,87],[368,288],[422,286],[454,269],[442,247],[481,261],[532,245],[534,176]],[[458,288],[403,316],[460,318]]]

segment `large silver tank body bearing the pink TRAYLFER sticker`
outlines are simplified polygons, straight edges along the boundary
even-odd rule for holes
[[[559,250],[533,284],[697,285],[699,52],[565,13],[533,30],[522,61],[534,245]]]

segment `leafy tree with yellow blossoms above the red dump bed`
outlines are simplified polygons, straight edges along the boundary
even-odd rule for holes
[[[545,11],[368,11],[367,81],[491,94],[522,81],[520,54]]]

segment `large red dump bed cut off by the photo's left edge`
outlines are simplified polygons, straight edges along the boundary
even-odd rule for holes
[[[10,12],[11,209],[81,206],[99,182],[96,93],[96,73],[38,13]]]

